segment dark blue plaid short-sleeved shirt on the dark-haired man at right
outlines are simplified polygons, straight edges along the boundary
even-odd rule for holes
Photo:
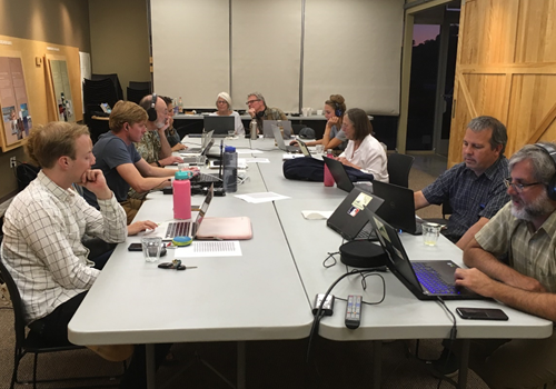
[[[459,240],[481,217],[493,218],[509,201],[504,184],[508,176],[508,160],[504,156],[479,177],[461,162],[423,189],[423,196],[431,205],[449,200],[453,213],[445,235]]]

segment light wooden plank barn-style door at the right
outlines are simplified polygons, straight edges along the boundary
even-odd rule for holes
[[[556,140],[556,0],[466,0],[459,28],[448,167],[481,114],[506,124],[507,157]]]

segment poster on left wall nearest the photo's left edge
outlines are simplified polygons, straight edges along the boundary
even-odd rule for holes
[[[0,106],[6,146],[27,138],[32,121],[21,58],[0,57]]]

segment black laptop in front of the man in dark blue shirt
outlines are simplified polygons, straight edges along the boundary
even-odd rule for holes
[[[385,203],[377,210],[377,215],[391,226],[411,235],[421,235],[421,223],[415,217],[414,191],[394,183],[373,181],[373,193]]]

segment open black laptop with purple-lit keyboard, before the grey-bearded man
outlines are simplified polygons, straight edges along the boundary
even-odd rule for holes
[[[365,208],[378,241],[388,256],[388,268],[419,300],[486,299],[465,288],[456,288],[454,272],[459,268],[450,260],[410,261],[394,227]]]

